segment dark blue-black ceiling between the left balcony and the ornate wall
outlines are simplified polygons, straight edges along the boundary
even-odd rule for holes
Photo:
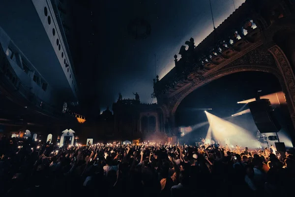
[[[234,1],[236,7],[244,2]],[[234,11],[233,0],[211,2],[217,26]],[[209,0],[71,0],[67,6],[80,106],[90,115],[111,107],[119,92],[123,98],[138,92],[142,102],[156,102],[150,97],[155,67],[161,78],[185,40],[193,37],[198,44],[213,30]],[[145,39],[128,32],[135,19],[150,25]]]

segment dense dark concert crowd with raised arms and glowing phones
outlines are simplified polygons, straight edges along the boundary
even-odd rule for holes
[[[294,196],[292,151],[151,142],[59,148],[3,137],[0,196]]]

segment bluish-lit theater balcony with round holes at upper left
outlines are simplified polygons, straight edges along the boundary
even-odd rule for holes
[[[55,117],[64,102],[77,105],[74,66],[55,1],[8,0],[0,12],[1,94]]]

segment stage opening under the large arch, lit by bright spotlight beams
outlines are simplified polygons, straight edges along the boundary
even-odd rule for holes
[[[269,74],[261,74],[269,80],[275,80]],[[260,82],[259,78],[259,73],[255,72],[237,73],[213,81],[187,96],[177,109],[179,141],[192,144],[202,143],[203,139],[206,144],[211,144],[213,140],[216,145],[227,144],[231,148],[238,145],[252,149],[275,145],[274,142],[278,140],[270,141],[267,137],[276,133],[259,133],[247,104],[255,100],[252,99],[255,91],[249,87],[256,86],[263,90],[261,98],[270,100],[274,115],[282,126],[277,133],[280,142],[284,142],[287,148],[293,147],[288,128],[290,114],[286,110],[284,94],[279,84],[270,86],[268,82]],[[243,80],[247,83],[238,82],[234,86],[222,87],[229,81]]]

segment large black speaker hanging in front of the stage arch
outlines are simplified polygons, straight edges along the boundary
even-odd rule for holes
[[[278,132],[279,122],[273,115],[269,99],[259,99],[248,103],[256,127],[261,133]]]

